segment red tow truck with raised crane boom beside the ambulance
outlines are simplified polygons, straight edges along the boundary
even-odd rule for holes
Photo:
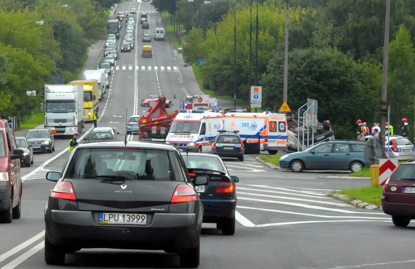
[[[165,142],[171,123],[179,110],[183,109],[183,101],[170,101],[162,94],[157,98],[143,99],[140,107],[138,140]]]

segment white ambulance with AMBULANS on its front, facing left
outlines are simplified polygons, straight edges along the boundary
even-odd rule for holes
[[[166,143],[181,152],[212,152],[212,143],[222,129],[222,112],[181,109],[171,123]]]

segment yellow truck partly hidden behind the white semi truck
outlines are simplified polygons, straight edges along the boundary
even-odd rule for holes
[[[84,87],[84,121],[92,122],[94,108],[98,112],[99,86],[98,80],[74,80],[69,82],[70,85],[82,85]]]

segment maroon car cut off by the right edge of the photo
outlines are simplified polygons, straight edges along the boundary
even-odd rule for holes
[[[406,227],[415,219],[415,161],[399,164],[383,185],[382,210],[392,215],[396,226]]]

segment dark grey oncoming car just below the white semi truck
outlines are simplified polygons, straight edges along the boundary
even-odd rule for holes
[[[26,134],[26,139],[30,143],[34,152],[55,151],[55,138],[48,128],[31,129]]]

